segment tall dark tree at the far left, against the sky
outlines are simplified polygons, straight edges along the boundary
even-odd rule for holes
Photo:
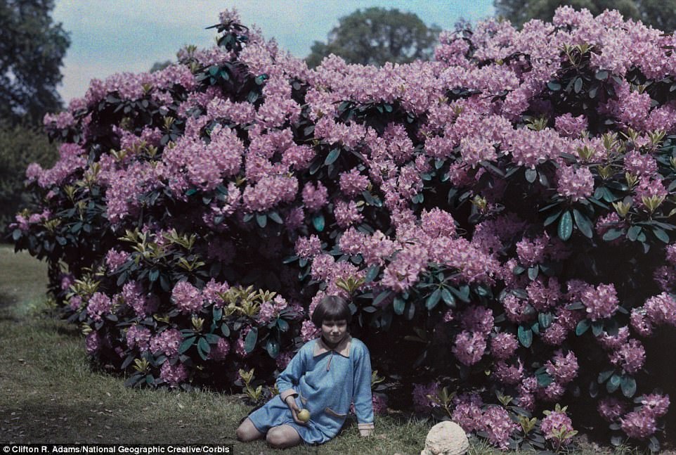
[[[56,86],[70,45],[53,0],[0,0],[0,119],[37,124],[61,107]]]

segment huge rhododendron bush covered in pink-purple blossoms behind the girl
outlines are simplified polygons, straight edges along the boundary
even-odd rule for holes
[[[27,169],[13,238],[89,352],[130,384],[271,384],[337,294],[420,411],[503,448],[573,425],[656,448],[674,37],[566,7],[444,33],[434,62],[308,70],[238,21],[46,117],[60,161]]]

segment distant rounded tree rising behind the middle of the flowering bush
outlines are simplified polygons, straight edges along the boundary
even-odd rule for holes
[[[326,43],[315,41],[306,61],[310,67],[315,67],[331,53],[348,63],[362,65],[426,60],[434,52],[439,32],[439,27],[427,27],[414,13],[403,13],[398,9],[358,9],[339,19]]]

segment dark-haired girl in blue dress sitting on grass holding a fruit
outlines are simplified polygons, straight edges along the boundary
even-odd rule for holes
[[[300,442],[322,444],[338,434],[354,403],[362,436],[373,432],[371,360],[363,342],[347,332],[351,314],[342,297],[327,295],[317,305],[312,321],[321,338],[306,342],[277,378],[276,395],[249,414],[237,429],[240,441],[266,437],[282,449]],[[310,420],[299,418],[301,409]]]

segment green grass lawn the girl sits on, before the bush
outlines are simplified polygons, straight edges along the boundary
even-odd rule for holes
[[[240,396],[130,389],[93,368],[77,326],[46,312],[45,290],[45,264],[0,245],[0,442],[223,443],[238,455],[278,453],[235,440],[251,410]],[[420,454],[431,425],[391,414],[377,418],[373,437],[360,437],[352,423],[327,444],[281,453]],[[576,453],[613,453],[583,447]],[[469,451],[494,453],[483,442]]]

